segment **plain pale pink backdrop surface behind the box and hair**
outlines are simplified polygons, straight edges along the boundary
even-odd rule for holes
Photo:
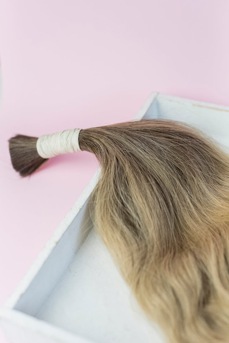
[[[7,140],[131,120],[151,91],[229,105],[228,13],[228,0],[0,0],[0,305],[98,167],[68,154],[22,179]]]

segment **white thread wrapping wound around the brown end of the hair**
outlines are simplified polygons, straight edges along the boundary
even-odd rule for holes
[[[50,158],[60,154],[81,151],[79,133],[81,129],[64,130],[53,134],[44,134],[37,139],[38,155]]]

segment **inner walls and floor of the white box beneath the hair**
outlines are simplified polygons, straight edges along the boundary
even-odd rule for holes
[[[228,150],[229,110],[205,105],[159,94],[143,118],[187,122]],[[94,342],[164,342],[96,235],[88,200],[14,309]]]

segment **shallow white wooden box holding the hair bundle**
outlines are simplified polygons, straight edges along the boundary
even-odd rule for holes
[[[134,120],[142,118],[185,121],[228,150],[229,107],[152,93]],[[165,342],[130,297],[92,228],[87,204],[99,173],[1,308],[1,326],[10,342]]]

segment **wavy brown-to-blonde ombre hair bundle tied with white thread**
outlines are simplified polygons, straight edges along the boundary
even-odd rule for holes
[[[229,156],[170,120],[61,137],[68,151],[89,151],[100,162],[90,201],[95,229],[147,316],[171,343],[229,342]],[[9,140],[22,176],[68,152],[54,135],[44,143],[49,153],[38,140]]]

